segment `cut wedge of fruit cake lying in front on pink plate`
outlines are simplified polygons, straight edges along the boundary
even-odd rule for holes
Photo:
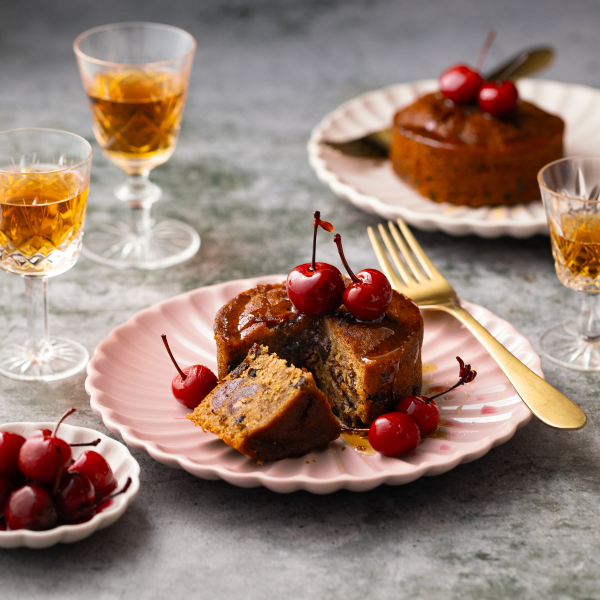
[[[341,431],[312,374],[258,344],[188,419],[259,461],[302,456]]]

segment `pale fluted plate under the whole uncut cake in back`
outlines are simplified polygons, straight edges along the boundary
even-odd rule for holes
[[[523,100],[565,121],[565,156],[600,154],[599,90],[539,79],[521,79],[517,86]],[[308,142],[309,162],[319,179],[355,206],[386,219],[400,217],[419,229],[486,238],[547,234],[541,200],[489,208],[433,202],[401,181],[389,161],[344,156],[320,143],[342,142],[390,127],[399,108],[437,89],[434,79],[394,85],[362,94],[326,115]]]

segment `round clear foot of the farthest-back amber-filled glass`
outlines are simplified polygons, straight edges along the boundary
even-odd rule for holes
[[[200,248],[200,236],[189,225],[152,221],[139,235],[125,223],[86,224],[82,254],[116,269],[163,269],[184,262]]]

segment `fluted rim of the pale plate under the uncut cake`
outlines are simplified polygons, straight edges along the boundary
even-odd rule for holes
[[[594,93],[598,95],[600,101],[600,90],[592,86],[581,84],[564,83],[550,79],[520,79],[517,85],[551,87],[558,86],[561,89],[581,91],[585,93]],[[419,212],[410,207],[404,207],[401,204],[389,205],[384,203],[376,195],[363,193],[356,189],[353,185],[343,182],[338,173],[332,170],[326,161],[320,155],[322,148],[320,142],[323,139],[324,130],[330,126],[331,122],[340,118],[344,113],[348,112],[354,106],[361,106],[367,100],[392,93],[398,93],[401,90],[415,90],[418,94],[424,93],[428,89],[433,89],[437,85],[436,79],[419,79],[412,82],[393,84],[379,89],[363,92],[350,100],[346,100],[337,108],[328,112],[315,127],[312,129],[310,138],[307,142],[308,162],[315,170],[319,180],[327,185],[331,191],[337,196],[346,199],[358,208],[377,214],[383,218],[392,218],[392,213],[395,217],[401,217],[408,223],[424,230],[441,229],[451,235],[468,235],[475,234],[480,237],[499,237],[501,235],[510,235],[512,237],[531,237],[536,234],[548,235],[547,222],[544,213],[543,219],[532,218],[528,223],[519,223],[515,219],[503,216],[501,219],[494,220],[479,220],[476,219],[472,212],[459,217],[451,217],[442,212]],[[567,123],[568,125],[568,123]],[[365,130],[366,133],[366,130]],[[412,191],[412,190],[411,190]],[[418,193],[414,192],[418,197]],[[538,203],[541,205],[541,200],[534,201],[532,204]],[[516,205],[527,206],[527,205]],[[485,207],[483,207],[485,208]],[[489,207],[493,209],[495,207]],[[512,207],[511,207],[512,208]],[[479,210],[472,208],[471,211]]]

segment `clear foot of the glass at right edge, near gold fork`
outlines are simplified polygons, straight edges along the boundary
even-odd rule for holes
[[[540,338],[542,356],[577,371],[600,371],[600,339],[586,341],[569,321],[546,330]]]

